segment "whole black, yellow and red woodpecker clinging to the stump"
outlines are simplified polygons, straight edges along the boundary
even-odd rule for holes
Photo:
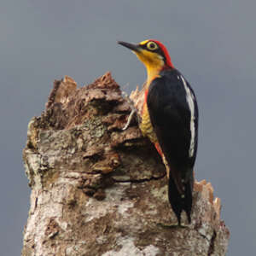
[[[178,226],[183,211],[190,224],[199,119],[195,92],[160,41],[118,44],[131,49],[147,69],[139,128],[154,143],[166,166],[168,200]]]

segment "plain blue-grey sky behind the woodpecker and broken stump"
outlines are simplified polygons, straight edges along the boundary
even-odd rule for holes
[[[89,84],[110,70],[127,92],[146,78],[116,40],[156,38],[195,90],[200,108],[196,177],[223,203],[228,255],[256,251],[254,0],[13,1],[0,3],[0,250],[19,255],[30,189],[22,165],[27,123],[54,79]]]

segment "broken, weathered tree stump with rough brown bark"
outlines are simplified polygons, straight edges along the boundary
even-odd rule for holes
[[[156,150],[135,119],[122,131],[130,111],[110,73],[79,89],[71,78],[55,81],[28,125],[22,255],[225,254],[230,234],[212,185],[195,183],[192,223],[183,216],[177,227]]]

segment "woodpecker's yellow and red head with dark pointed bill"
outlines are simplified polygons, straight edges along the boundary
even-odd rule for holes
[[[143,62],[150,73],[159,73],[160,70],[172,67],[172,61],[170,55],[164,44],[159,41],[149,39],[139,44],[130,44],[119,41],[118,44],[131,49],[135,53],[140,61]]]

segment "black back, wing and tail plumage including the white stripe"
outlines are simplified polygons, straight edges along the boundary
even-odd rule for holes
[[[177,69],[167,68],[149,85],[147,104],[154,132],[170,169],[169,201],[178,224],[183,210],[190,223],[198,137],[195,93]]]

